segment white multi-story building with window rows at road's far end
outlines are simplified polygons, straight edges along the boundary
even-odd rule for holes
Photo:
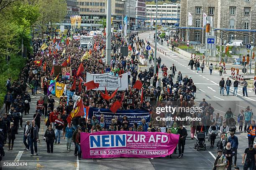
[[[161,25],[174,25],[179,23],[180,4],[172,3],[157,5],[157,18]],[[146,25],[150,25],[152,20],[155,24],[156,21],[156,5],[146,5]]]

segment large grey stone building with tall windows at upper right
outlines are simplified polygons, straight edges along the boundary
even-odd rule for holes
[[[188,13],[192,15],[192,26],[189,26],[189,41],[202,42],[203,13],[212,17],[211,34],[220,37],[223,43],[231,40],[242,40],[244,44],[253,41],[247,35],[254,35],[256,29],[256,0],[181,0],[180,34],[187,40]],[[242,33],[246,35],[239,35]],[[205,39],[205,38],[204,38]]]

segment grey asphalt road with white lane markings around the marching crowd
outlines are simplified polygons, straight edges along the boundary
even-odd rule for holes
[[[154,32],[151,32],[151,39]],[[140,34],[140,38],[149,39],[149,33]],[[235,116],[238,115],[240,109],[244,109],[248,105],[255,110],[256,97],[252,90],[248,90],[248,97],[243,96],[220,96],[218,82],[220,81],[220,76],[217,71],[213,71],[213,75],[210,76],[209,70],[205,69],[205,73],[196,73],[195,70],[191,71],[188,64],[187,58],[179,56],[179,54],[170,51],[166,45],[160,46],[162,50],[166,51],[166,56],[158,53],[157,56],[161,56],[162,63],[165,63],[168,67],[174,63],[177,67],[177,71],[181,71],[183,76],[192,76],[195,85],[197,86],[196,100],[200,102],[202,98],[205,98],[207,102],[211,103],[215,108],[215,113],[220,112],[220,114],[225,114],[228,107],[232,108]],[[187,69],[188,68],[188,69]],[[159,74],[161,75],[161,74]],[[230,73],[225,75],[229,76]],[[241,89],[240,89],[241,90]],[[42,92],[42,91],[41,91]],[[238,92],[242,94],[241,91]],[[39,96],[43,94],[40,90],[36,96],[31,96],[31,114],[23,115],[23,125],[27,119],[32,120],[33,114],[35,113],[36,101]],[[58,99],[56,99],[59,101]],[[56,103],[57,104],[57,103]],[[216,149],[210,149],[210,142],[206,141],[207,148],[203,150],[195,150],[194,143],[195,140],[190,139],[190,127],[186,127],[188,130],[188,137],[184,150],[184,157],[178,159],[178,155],[173,155],[172,159],[169,157],[160,157],[154,159],[138,159],[138,158],[117,158],[117,159],[90,159],[90,160],[78,160],[74,156],[74,146],[72,146],[72,151],[67,152],[65,147],[65,141],[61,137],[61,145],[54,145],[54,153],[46,152],[46,142],[43,140],[43,135],[46,130],[44,121],[41,122],[41,129],[39,132],[39,138],[41,140],[41,145],[38,145],[38,156],[30,157],[30,151],[24,151],[25,148],[23,144],[23,128],[18,129],[19,134],[16,135],[16,140],[14,141],[13,150],[7,151],[8,147],[5,146],[5,157],[2,160],[3,170],[46,170],[46,169],[60,169],[60,170],[92,170],[92,169],[120,169],[120,170],[212,170],[212,165],[215,161]],[[237,127],[238,128],[238,127]],[[238,147],[238,161],[237,165],[242,167],[241,158],[245,148],[247,147],[246,134],[236,133],[239,140]],[[219,138],[218,138],[219,139]],[[218,141],[216,139],[216,142]],[[4,166],[6,162],[26,162],[27,166]]]

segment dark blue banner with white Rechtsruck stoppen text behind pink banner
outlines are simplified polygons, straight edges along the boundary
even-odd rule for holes
[[[111,124],[111,119],[115,119],[115,116],[118,117],[120,122],[123,121],[123,116],[126,115],[130,124],[133,123],[141,123],[141,119],[145,119],[146,123],[150,122],[151,114],[148,110],[118,110],[116,113],[110,111],[110,109],[97,109],[90,107],[88,118],[92,119],[92,116],[95,116],[96,119],[100,118],[100,114],[104,114],[105,122],[107,124],[107,128]]]

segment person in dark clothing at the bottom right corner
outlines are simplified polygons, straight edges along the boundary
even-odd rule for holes
[[[243,170],[248,170],[248,168],[253,170],[254,160],[256,160],[256,150],[253,148],[253,144],[250,144],[249,147],[244,151],[242,157]]]

